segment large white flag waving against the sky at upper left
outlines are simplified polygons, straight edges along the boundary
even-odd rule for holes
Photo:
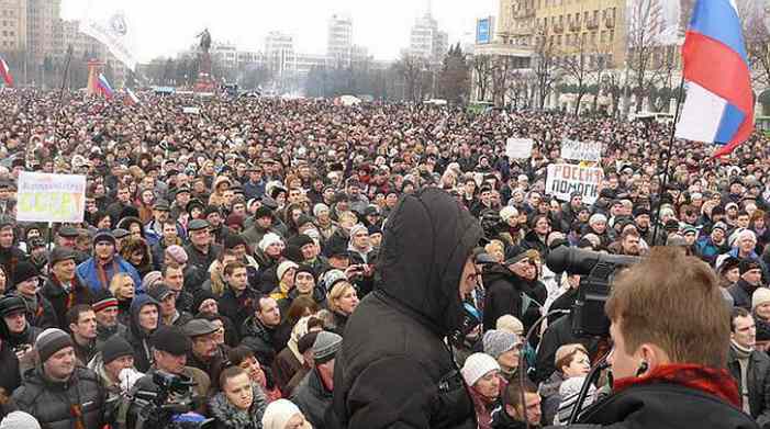
[[[89,7],[86,18],[80,23],[80,31],[103,43],[125,67],[136,71],[136,26],[132,25],[121,11],[98,13],[93,9]]]

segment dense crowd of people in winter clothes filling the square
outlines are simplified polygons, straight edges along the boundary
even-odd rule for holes
[[[189,399],[176,421],[332,427],[343,380],[335,355],[359,300],[388,279],[433,281],[447,268],[431,249],[465,244],[461,232],[431,230],[432,218],[401,204],[434,188],[482,230],[470,244],[479,272],[465,302],[468,329],[445,340],[473,425],[566,424],[592,362],[609,350],[576,337],[570,314],[524,340],[540,316],[569,311],[578,295],[580,275],[545,263],[559,246],[644,257],[667,245],[708,263],[735,308],[736,405],[770,421],[763,136],[714,159],[696,143],[669,148],[667,125],[599,114],[141,97],[129,105],[0,93],[0,428],[134,428],[157,418],[142,397],[163,392],[164,376],[194,383],[168,399]],[[509,137],[533,138],[532,157],[507,159]],[[565,138],[604,146],[592,204],[546,192],[547,166],[565,162]],[[16,222],[21,171],[87,176],[83,222]],[[389,236],[403,223],[424,228],[427,250]],[[440,297],[419,289],[382,293],[438,317]],[[404,335],[377,319],[366,328],[371,341]],[[410,376],[398,368],[395,382]],[[606,384],[592,386],[587,404]]]

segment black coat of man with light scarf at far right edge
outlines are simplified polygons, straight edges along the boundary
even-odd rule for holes
[[[738,384],[738,392],[743,392],[740,380],[740,363],[733,347],[729,348],[727,369]],[[749,392],[749,409],[751,417],[757,419],[759,426],[770,424],[770,358],[761,351],[752,351],[749,355],[749,368],[746,372]]]

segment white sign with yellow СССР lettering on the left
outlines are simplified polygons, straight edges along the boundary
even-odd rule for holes
[[[21,172],[16,201],[20,222],[82,222],[86,177]]]

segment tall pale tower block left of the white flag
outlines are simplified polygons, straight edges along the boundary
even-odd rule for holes
[[[30,65],[42,65],[56,50],[55,26],[62,0],[26,0],[26,46]]]

